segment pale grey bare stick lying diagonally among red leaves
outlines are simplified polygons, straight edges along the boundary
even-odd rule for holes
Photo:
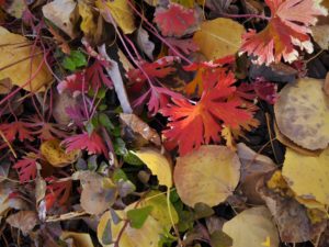
[[[118,65],[115,60],[111,59],[106,53],[105,44],[98,47],[99,53],[111,64],[106,67],[107,75],[113,81],[115,92],[124,113],[133,113],[132,105],[128,100],[128,96],[118,70]]]

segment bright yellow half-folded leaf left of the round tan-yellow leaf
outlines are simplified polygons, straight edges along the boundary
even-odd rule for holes
[[[159,184],[172,187],[172,167],[168,159],[160,151],[145,148],[136,151],[135,155],[150,169],[152,175],[158,177]]]

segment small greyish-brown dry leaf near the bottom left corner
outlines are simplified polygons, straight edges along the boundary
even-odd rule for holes
[[[5,222],[12,227],[19,228],[24,235],[26,235],[37,224],[38,218],[34,211],[20,211],[10,215]]]

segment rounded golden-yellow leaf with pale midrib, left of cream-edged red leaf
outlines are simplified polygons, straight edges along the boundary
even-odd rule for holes
[[[230,19],[204,21],[193,41],[207,59],[214,60],[237,53],[241,46],[245,27]]]

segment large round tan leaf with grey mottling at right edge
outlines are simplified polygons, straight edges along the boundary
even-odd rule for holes
[[[310,150],[329,143],[329,99],[322,88],[324,80],[299,79],[281,90],[274,105],[280,132]]]

